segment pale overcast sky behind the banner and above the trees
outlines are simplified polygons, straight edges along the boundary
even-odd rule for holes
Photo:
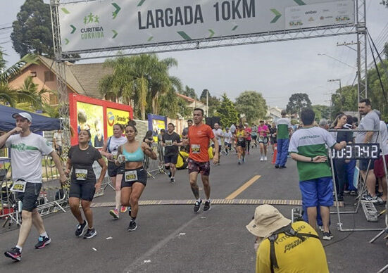
[[[367,0],[367,27],[382,50],[384,42],[388,42],[388,8],[379,2]],[[0,1],[0,29],[12,24],[23,3],[24,0]],[[19,59],[12,49],[11,32],[0,30],[0,46],[8,54],[8,65]],[[213,96],[225,92],[235,99],[242,91],[254,90],[263,94],[269,106],[284,108],[289,96],[302,92],[309,95],[313,104],[330,105],[330,93],[339,84],[327,80],[339,78],[344,86],[352,84],[356,77],[356,69],[351,68],[356,67],[356,51],[337,46],[337,43],[344,42],[356,42],[356,35],[158,55],[176,58],[178,67],[170,70],[170,74],[179,77],[184,85],[194,88],[199,95],[203,89],[208,89]],[[318,56],[318,53],[327,56]],[[368,63],[372,61],[370,57]]]

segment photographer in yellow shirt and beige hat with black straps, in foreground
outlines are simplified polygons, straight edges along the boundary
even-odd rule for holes
[[[272,205],[259,205],[246,229],[256,236],[256,273],[329,272],[325,250],[308,223],[291,223]]]

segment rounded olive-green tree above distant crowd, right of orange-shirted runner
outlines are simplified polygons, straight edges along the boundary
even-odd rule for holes
[[[268,106],[261,93],[257,91],[244,91],[240,94],[236,103],[237,111],[246,116],[247,122],[253,122],[267,115]]]

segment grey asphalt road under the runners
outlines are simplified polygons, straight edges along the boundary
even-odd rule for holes
[[[239,193],[236,199],[300,200],[296,164],[288,160],[287,169],[275,170],[258,160],[258,150],[247,155],[246,163],[237,165],[234,155],[221,158],[220,166],[211,167],[211,197],[224,199],[255,175],[261,177]],[[149,179],[142,201],[193,200],[187,170],[180,170],[177,182],[170,184],[165,174]],[[201,188],[201,182],[199,182]],[[204,192],[201,190],[204,198]],[[32,228],[23,248],[21,262],[0,258],[0,272],[254,272],[254,236],[245,225],[251,220],[256,205],[220,204],[211,211],[195,214],[193,204],[142,205],[137,217],[138,228],[128,232],[129,217],[113,220],[109,207],[114,193],[109,187],[104,196],[94,199],[94,227],[98,235],[90,240],[74,236],[77,222],[70,211],[44,217],[51,244],[34,249],[37,231]],[[244,203],[244,202],[242,202]],[[353,200],[346,196],[345,207],[351,210]],[[275,205],[291,217],[295,205]],[[382,208],[378,208],[381,210]],[[332,215],[334,239],[324,241],[330,272],[377,272],[388,262],[388,248],[380,237],[368,241],[378,231],[337,231],[337,215]],[[366,222],[363,211],[342,215],[344,228],[383,228],[384,221]],[[111,237],[111,239],[109,239]],[[18,229],[0,234],[2,250],[14,246]]]

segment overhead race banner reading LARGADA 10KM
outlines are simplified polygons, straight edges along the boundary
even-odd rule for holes
[[[355,23],[354,0],[104,0],[58,11],[63,52]]]

